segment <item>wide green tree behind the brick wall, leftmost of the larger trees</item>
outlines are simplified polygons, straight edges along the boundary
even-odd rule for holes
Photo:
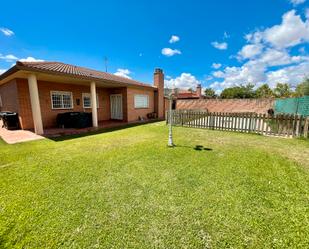
[[[221,95],[223,99],[250,99],[255,98],[254,85],[248,84],[246,86],[235,86],[225,88]]]

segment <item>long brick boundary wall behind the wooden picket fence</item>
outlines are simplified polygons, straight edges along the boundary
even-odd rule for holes
[[[274,108],[273,99],[196,99],[177,100],[176,109],[202,109],[209,112],[267,113]]]

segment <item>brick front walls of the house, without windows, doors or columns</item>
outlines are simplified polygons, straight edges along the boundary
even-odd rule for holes
[[[30,103],[29,87],[27,79],[17,79],[17,88],[12,90],[13,93],[9,93],[11,96],[16,96],[18,99],[19,107],[17,105],[20,114],[20,123],[23,129],[33,128],[33,118]],[[18,97],[17,97],[17,90]],[[90,93],[90,86],[73,85],[73,84],[61,84],[53,82],[38,81],[40,106],[42,112],[43,127],[55,127],[56,117],[58,113],[64,113],[69,111],[85,111],[91,112],[91,108],[83,108],[82,93]],[[73,109],[54,110],[51,106],[51,91],[67,91],[73,94]],[[124,121],[137,121],[139,117],[146,118],[146,115],[154,111],[154,90],[152,89],[140,89],[140,88],[100,88],[97,87],[98,94],[98,120],[104,121],[110,119],[110,95],[122,94],[123,103],[123,120]],[[149,96],[149,108],[135,109],[134,108],[134,95],[135,94],[147,94]],[[77,99],[80,100],[77,105]]]

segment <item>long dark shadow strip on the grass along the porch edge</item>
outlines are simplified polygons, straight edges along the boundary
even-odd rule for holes
[[[162,120],[155,120],[155,121],[150,121],[150,122],[143,122],[143,123],[134,123],[134,124],[125,124],[125,125],[120,125],[116,127],[109,127],[109,128],[99,128],[96,131],[89,131],[89,132],[84,132],[80,134],[73,134],[73,135],[60,135],[58,137],[46,137],[49,140],[52,140],[54,142],[62,142],[66,140],[72,140],[76,138],[82,138],[82,137],[88,137],[88,136],[94,136],[102,133],[108,133],[108,132],[113,132],[113,131],[119,131],[131,127],[136,127],[140,125],[146,125],[146,124],[152,124],[152,123],[157,123],[161,122]]]

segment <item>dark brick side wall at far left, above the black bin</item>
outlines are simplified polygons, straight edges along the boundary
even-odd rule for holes
[[[11,80],[0,86],[0,98],[2,100],[0,111],[19,112],[16,80]]]

